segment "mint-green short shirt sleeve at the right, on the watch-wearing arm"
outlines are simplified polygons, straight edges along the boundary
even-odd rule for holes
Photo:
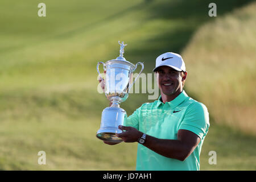
[[[207,107],[200,102],[195,102],[188,106],[179,129],[192,131],[202,139],[207,134],[209,126]]]

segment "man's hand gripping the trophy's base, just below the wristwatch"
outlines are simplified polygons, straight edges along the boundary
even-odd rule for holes
[[[122,138],[123,142],[138,142],[138,139],[142,137],[143,133],[134,127],[130,126],[118,126],[123,131],[122,133],[115,134],[117,137]]]

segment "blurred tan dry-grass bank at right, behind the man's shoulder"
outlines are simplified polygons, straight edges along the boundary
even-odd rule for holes
[[[255,10],[252,3],[204,24],[183,56],[189,72],[187,88],[204,101],[214,121],[256,136]]]

